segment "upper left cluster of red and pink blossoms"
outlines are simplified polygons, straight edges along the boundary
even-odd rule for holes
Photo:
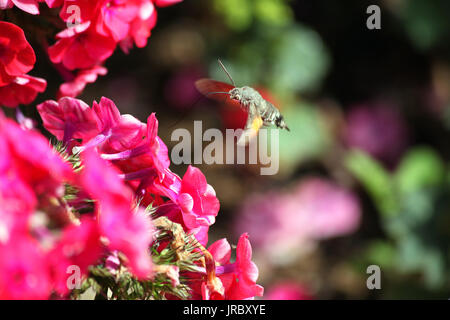
[[[48,47],[48,55],[64,79],[58,96],[76,97],[88,83],[107,73],[102,64],[117,46],[128,53],[133,45],[142,48],[147,44],[156,24],[155,6],[168,6],[180,1],[6,0],[0,1],[0,9],[15,6],[29,14],[39,15],[41,2],[52,10],[59,9],[58,18],[67,28],[57,30],[56,42]],[[42,19],[49,23],[54,21],[53,17],[48,19],[44,16]],[[46,47],[46,41],[41,45]],[[27,75],[35,62],[35,53],[23,30],[12,23],[0,22],[0,105],[16,107],[29,104],[45,90],[44,79]]]

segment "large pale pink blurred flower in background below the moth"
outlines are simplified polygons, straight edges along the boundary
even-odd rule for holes
[[[255,250],[274,264],[289,263],[315,242],[354,232],[361,210],[358,198],[322,178],[307,178],[289,192],[250,197],[235,230],[246,230]]]

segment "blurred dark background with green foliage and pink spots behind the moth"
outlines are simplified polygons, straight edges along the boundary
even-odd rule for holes
[[[366,28],[371,4],[381,30]],[[228,81],[221,58],[291,132],[279,132],[277,175],[199,165],[221,201],[210,241],[247,230],[269,297],[289,283],[297,298],[448,299],[449,13],[447,0],[185,0],[160,10],[148,46],[117,52],[81,98],[107,96],[143,121],[156,111],[170,150],[172,131],[193,120],[245,122],[194,88]],[[381,290],[366,287],[371,264]]]

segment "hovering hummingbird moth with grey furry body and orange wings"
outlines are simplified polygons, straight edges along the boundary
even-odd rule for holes
[[[220,59],[218,61],[232,84],[212,79],[200,79],[195,82],[195,86],[205,96],[220,102],[236,105],[247,112],[248,116],[244,132],[237,142],[239,145],[246,145],[248,141],[258,134],[262,126],[275,125],[280,129],[290,131],[280,110],[265,100],[255,89],[247,86],[236,87],[233,78],[222,61]]]

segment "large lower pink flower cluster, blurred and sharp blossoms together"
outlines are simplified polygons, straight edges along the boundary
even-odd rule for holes
[[[104,97],[92,107],[64,97],[37,109],[64,145],[60,154],[38,132],[0,119],[0,298],[66,297],[71,266],[84,277],[96,265],[112,273],[126,268],[145,281],[164,273],[179,286],[176,261],[152,262],[151,251],[168,245],[155,245],[156,217],[195,238],[192,251],[201,259],[183,274],[192,298],[262,295],[246,234],[233,263],[225,239],[205,248],[219,201],[198,168],[190,166],[183,178],[169,169],[154,113],[142,123]]]

